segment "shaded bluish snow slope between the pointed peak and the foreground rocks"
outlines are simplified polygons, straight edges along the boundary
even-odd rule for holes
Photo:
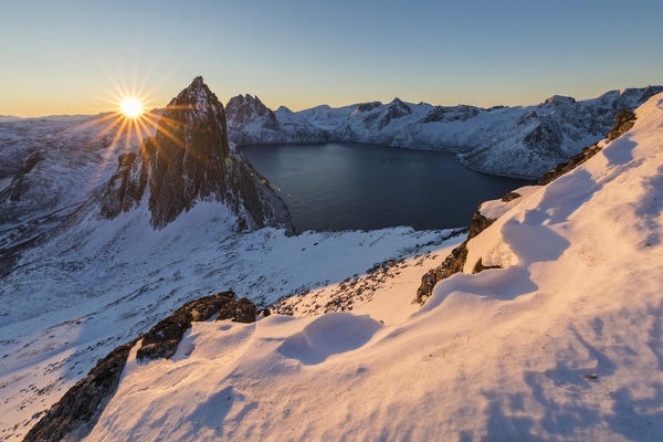
[[[2,280],[0,440],[20,440],[97,359],[187,301],[233,290],[267,305],[440,248],[449,233],[236,233],[231,213],[204,202],[155,231],[141,208],[86,220]]]

